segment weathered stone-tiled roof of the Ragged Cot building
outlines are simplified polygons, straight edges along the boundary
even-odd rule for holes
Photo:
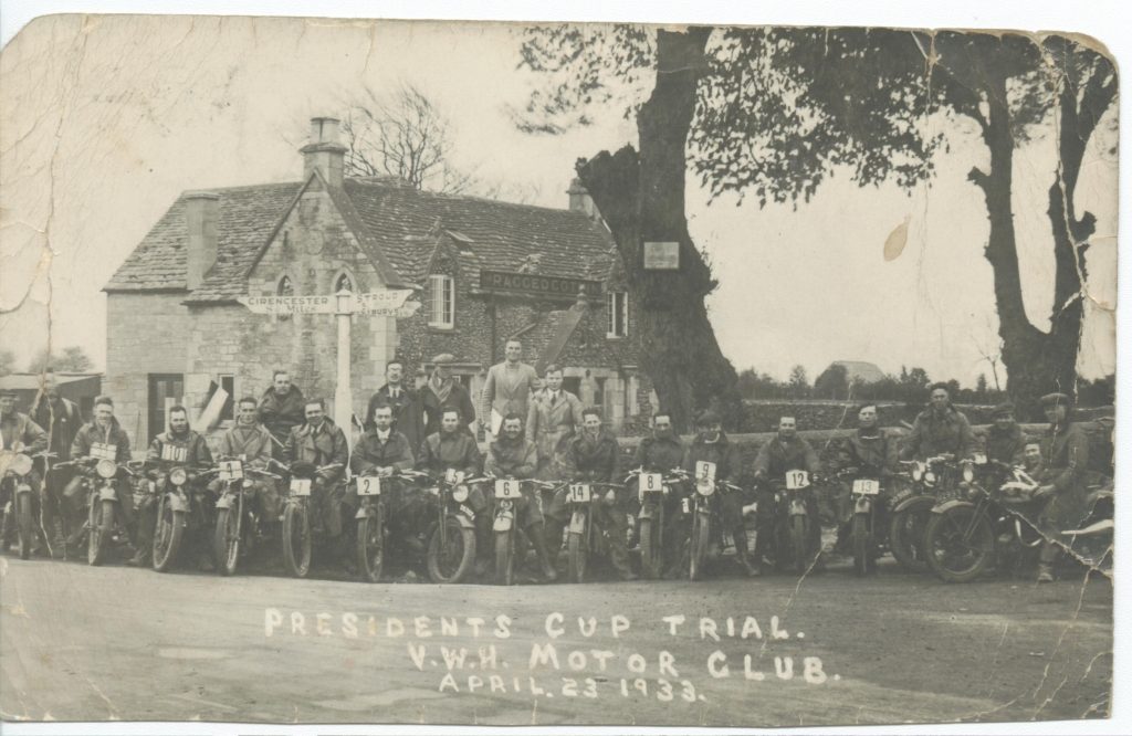
[[[314,176],[314,174],[312,174]],[[308,180],[309,181],[309,180]],[[247,293],[247,274],[306,182],[209,189],[220,195],[216,264],[189,297],[225,302]],[[346,179],[331,198],[386,281],[420,284],[441,233],[461,260],[480,268],[517,271],[537,255],[535,273],[603,281],[614,241],[583,213],[480,197],[420,191],[392,178]],[[105,291],[186,289],[182,194],[111,277]]]

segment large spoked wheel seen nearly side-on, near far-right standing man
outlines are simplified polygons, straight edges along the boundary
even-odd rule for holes
[[[949,583],[978,577],[994,557],[990,520],[975,506],[963,505],[933,514],[924,536],[932,571]]]

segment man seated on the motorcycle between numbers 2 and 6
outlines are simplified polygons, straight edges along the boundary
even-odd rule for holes
[[[417,457],[417,470],[422,470],[434,478],[444,477],[448,469],[464,473],[464,478],[474,478],[480,472],[479,445],[468,431],[465,422],[455,408],[448,408],[440,414],[440,431],[429,435],[421,444]],[[483,495],[483,489],[470,486],[468,505],[475,514],[475,574],[482,575],[491,565],[491,514],[490,506]]]

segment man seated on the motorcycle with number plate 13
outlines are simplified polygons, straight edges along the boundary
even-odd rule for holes
[[[891,498],[889,480],[897,471],[897,439],[889,437],[877,425],[875,404],[865,404],[857,412],[857,431],[846,442],[840,453],[842,469],[856,469],[852,477],[841,482],[838,494],[838,541],[837,551],[844,554],[850,544],[852,529],[852,481],[869,478],[881,481],[881,495],[876,497],[877,516],[883,517]],[[883,523],[878,524],[885,529]]]

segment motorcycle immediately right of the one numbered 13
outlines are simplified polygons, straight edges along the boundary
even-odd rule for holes
[[[981,457],[985,462],[986,456]],[[908,572],[925,572],[924,532],[938,499],[954,494],[959,467],[944,455],[902,460],[900,464],[903,470],[897,479],[902,488],[892,494],[889,549]]]

